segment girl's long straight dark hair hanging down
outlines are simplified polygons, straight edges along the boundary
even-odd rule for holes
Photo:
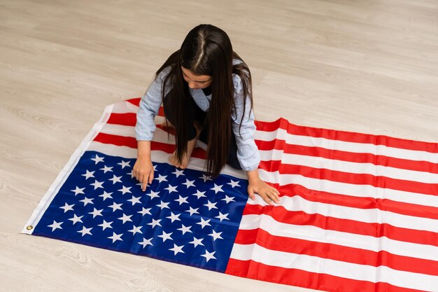
[[[233,65],[233,59],[237,60]],[[169,98],[169,106],[176,111],[176,158],[181,162],[187,152],[188,132],[184,127],[188,117],[187,106],[190,96],[188,84],[183,78],[181,67],[189,69],[196,75],[212,76],[211,103],[206,116],[209,125],[209,137],[206,153],[206,170],[213,176],[218,176],[227,162],[229,144],[232,140],[232,112],[234,104],[234,83],[232,74],[237,74],[243,83],[243,115],[246,99],[249,98],[252,107],[251,74],[241,57],[234,53],[227,34],[213,25],[199,25],[185,37],[181,48],[170,55],[158,69],[156,76],[170,67],[169,74],[164,78],[162,99]],[[167,93],[169,88],[170,91]],[[236,117],[241,118],[242,117]],[[181,125],[181,126],[180,126]]]

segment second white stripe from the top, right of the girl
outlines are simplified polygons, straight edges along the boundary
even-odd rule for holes
[[[418,181],[422,183],[438,183],[438,174],[430,172],[418,172],[409,169],[385,167],[372,163],[348,162],[322,157],[283,153],[280,150],[259,151],[262,160],[281,160],[288,165],[304,165],[318,169],[330,169],[339,172],[351,172],[353,174],[372,174],[373,176],[386,176],[392,179],[404,179],[406,181]]]

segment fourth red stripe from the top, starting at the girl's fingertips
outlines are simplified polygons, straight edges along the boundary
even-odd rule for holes
[[[278,183],[269,183],[269,185],[278,189],[281,196],[293,197],[295,195],[299,195],[299,197],[303,197],[311,202],[336,204],[339,206],[358,209],[380,209],[382,211],[390,211],[397,214],[438,220],[437,207],[397,202],[374,197],[355,197],[352,195],[341,195],[337,193],[323,192],[320,190],[311,190],[295,183],[290,183],[283,186],[279,186]]]

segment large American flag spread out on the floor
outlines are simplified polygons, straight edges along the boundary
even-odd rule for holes
[[[138,106],[106,107],[23,233],[321,291],[438,291],[438,144],[257,122],[270,206],[243,172],[206,176],[201,144],[190,169],[167,164],[158,127],[142,192]]]

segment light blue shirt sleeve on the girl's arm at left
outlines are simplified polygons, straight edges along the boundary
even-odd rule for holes
[[[164,78],[169,74],[170,68],[165,68],[150,83],[148,90],[141,97],[139,111],[137,111],[137,122],[135,133],[137,141],[152,141],[155,129],[154,118],[162,104],[162,85]]]

